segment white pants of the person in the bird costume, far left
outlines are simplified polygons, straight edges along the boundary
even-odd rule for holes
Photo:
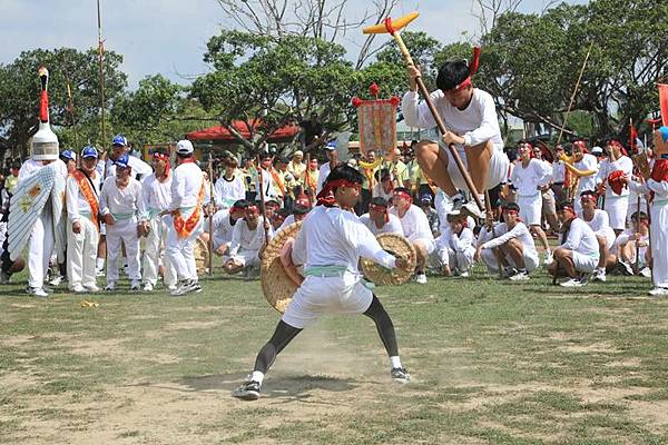
[[[35,221],[28,243],[28,286],[42,287],[49,259],[53,251],[53,216],[51,202],[47,201],[42,214]]]

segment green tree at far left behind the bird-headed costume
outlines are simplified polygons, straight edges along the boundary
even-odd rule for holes
[[[105,55],[105,91],[107,106],[126,88],[126,75],[120,71],[122,56]],[[98,142],[99,130],[99,62],[96,49],[81,52],[71,48],[23,51],[9,65],[0,65],[0,137],[14,155],[26,157],[28,141],[37,129],[39,110],[40,66],[49,69],[49,111],[62,147]],[[68,85],[72,96],[72,112],[68,109]],[[75,129],[81,129],[81,135]],[[88,129],[87,131],[85,129]],[[78,135],[77,138],[75,136]]]

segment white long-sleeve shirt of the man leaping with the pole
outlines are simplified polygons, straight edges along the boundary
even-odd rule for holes
[[[464,146],[477,146],[491,140],[495,148],[503,149],[497,106],[489,92],[474,88],[471,102],[464,110],[451,106],[441,90],[435,90],[430,96],[445,127],[450,131],[462,135]],[[436,126],[426,102],[419,102],[418,91],[406,92],[401,107],[409,127]]]

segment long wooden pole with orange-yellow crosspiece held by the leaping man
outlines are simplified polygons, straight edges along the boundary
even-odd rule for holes
[[[365,34],[380,34],[380,33],[385,33],[385,32],[390,33],[390,36],[392,36],[394,38],[394,41],[396,41],[396,44],[399,46],[399,49],[400,49],[406,65],[409,67],[414,67],[415,63],[413,62],[413,58],[411,57],[409,49],[404,44],[404,41],[401,38],[401,33],[399,32],[399,30],[404,28],[411,21],[415,20],[418,18],[418,16],[419,16],[418,12],[411,12],[410,14],[404,16],[396,21],[392,21],[392,19],[386,18],[382,24],[374,24],[372,27],[366,27],[362,30],[362,32]],[[426,89],[426,86],[424,85],[424,81],[422,80],[422,77],[415,78],[415,82],[418,83],[418,89],[420,90],[420,93],[424,98],[424,101],[426,102],[426,106],[429,107],[429,110],[431,111],[431,113],[434,118],[434,121],[436,122],[436,126],[439,127],[439,130],[441,131],[442,135],[445,135],[449,130],[448,130],[448,128],[445,128],[445,123],[443,123],[443,120],[441,119],[441,116],[439,115],[439,111],[436,110],[436,107],[434,106],[434,102],[431,99],[429,90]],[[475,188],[473,180],[471,180],[471,176],[469,175],[469,171],[464,167],[464,164],[462,162],[462,159],[460,158],[459,152],[456,151],[456,148],[454,147],[454,144],[451,144],[450,146],[448,146],[448,149],[450,150],[452,159],[454,159],[454,164],[456,164],[456,167],[459,168],[459,170],[462,175],[462,178],[464,178],[464,181],[466,182],[466,187],[469,188],[469,191],[471,191],[471,195],[473,196],[473,199],[475,200],[478,208],[480,209],[480,211],[484,211],[484,205],[482,204],[482,200],[480,199],[480,196],[478,195],[478,189]]]

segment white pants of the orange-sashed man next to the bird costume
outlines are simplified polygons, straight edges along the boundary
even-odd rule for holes
[[[67,277],[70,289],[96,285],[95,264],[100,235],[88,217],[81,216],[79,224],[81,231],[75,234],[72,225],[67,222]]]

